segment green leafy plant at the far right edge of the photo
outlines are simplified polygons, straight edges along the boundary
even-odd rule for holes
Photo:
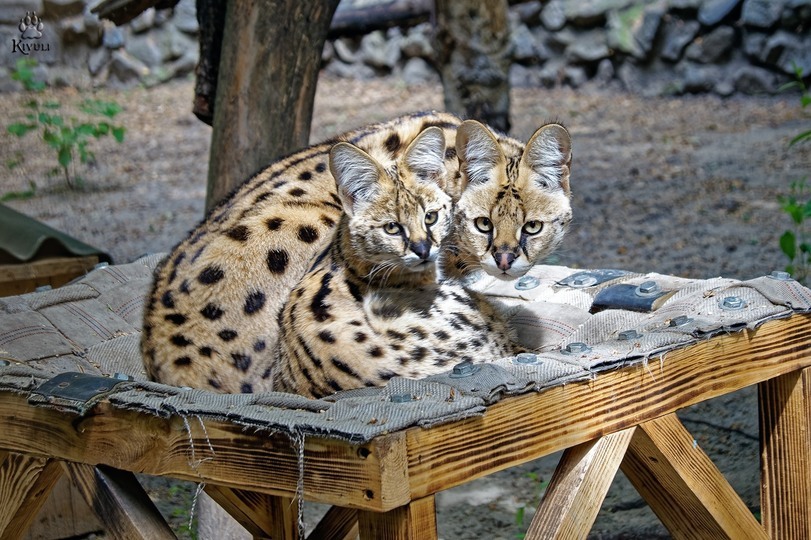
[[[794,66],[795,80],[781,87],[781,90],[799,89],[800,106],[811,105],[811,94],[803,81],[802,68]],[[811,130],[804,131],[789,141],[789,147],[811,139]],[[792,227],[780,236],[780,250],[788,258],[786,272],[794,279],[805,283],[811,270],[811,243],[809,243],[809,223],[811,223],[811,192],[808,177],[794,180],[789,186],[789,194],[778,197],[780,207],[791,218]]]

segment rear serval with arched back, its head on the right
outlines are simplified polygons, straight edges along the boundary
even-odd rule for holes
[[[437,113],[398,118],[294,154],[246,182],[156,272],[142,339],[150,375],[168,384],[225,392],[270,389],[276,314],[328,245],[340,215],[335,182],[326,173],[329,149],[336,141],[350,141],[389,169],[427,127],[439,126],[453,140],[459,124],[459,119]],[[481,237],[458,238],[448,251],[446,272],[458,277],[481,267],[517,277],[509,273],[513,265],[524,264],[524,259],[534,263],[548,253],[568,221],[568,134],[560,126],[546,128],[538,141],[557,153],[542,153],[543,159],[530,162],[522,161],[523,146],[517,141],[494,139],[486,129],[479,133],[488,139],[459,139],[470,147],[467,161],[457,161],[453,147],[445,152],[447,178],[455,180],[445,186],[447,191],[458,198],[468,188],[456,220],[476,215],[474,234]],[[501,150],[477,159],[477,145],[484,149],[493,140]],[[488,170],[491,177],[486,178]],[[496,243],[505,227],[493,224],[504,215],[512,216],[518,229],[515,238]],[[472,232],[466,221],[462,225]]]

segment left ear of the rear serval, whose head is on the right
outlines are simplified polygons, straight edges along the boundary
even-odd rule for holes
[[[504,169],[506,158],[498,141],[487,127],[475,120],[465,120],[456,130],[456,155],[466,184],[487,182]]]

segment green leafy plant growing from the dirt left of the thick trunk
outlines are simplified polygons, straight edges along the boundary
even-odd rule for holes
[[[23,87],[34,94],[41,93],[45,85],[34,79],[36,61],[20,59],[12,70],[11,77],[22,83]],[[79,120],[75,116],[65,118],[60,114],[62,104],[58,101],[42,101],[36,98],[24,103],[28,110],[25,120],[15,122],[8,126],[9,133],[17,137],[25,137],[30,132],[39,132],[40,139],[56,154],[57,171],[64,174],[68,187],[73,189],[75,179],[75,160],[78,157],[82,164],[95,160],[95,154],[90,150],[89,144],[94,139],[112,136],[116,142],[124,140],[126,129],[111,123],[118,113],[122,111],[119,104],[112,101],[86,99],[79,105],[79,110],[86,118],[101,118],[100,120]],[[74,167],[74,174],[71,174]]]

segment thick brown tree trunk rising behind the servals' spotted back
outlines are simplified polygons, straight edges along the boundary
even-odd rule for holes
[[[206,208],[307,145],[321,51],[338,0],[230,0]]]

